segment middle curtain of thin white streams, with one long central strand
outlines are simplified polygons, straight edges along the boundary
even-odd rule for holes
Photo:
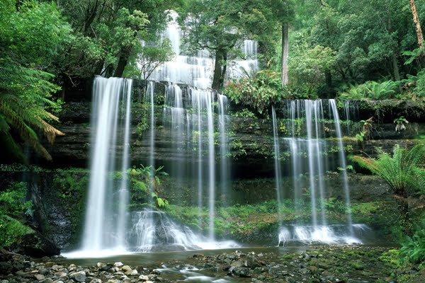
[[[164,126],[170,127],[173,152],[169,173],[176,180],[176,187],[186,180],[187,175],[195,178],[199,213],[201,215],[203,209],[208,209],[208,241],[212,243],[215,242],[215,207],[219,193],[216,187],[220,185],[220,194],[227,196],[225,188],[229,178],[227,97],[193,87],[185,88],[183,92],[176,83],[169,83],[164,94]],[[217,122],[215,113],[218,114]],[[187,149],[192,152],[189,156],[184,154]],[[220,158],[216,161],[218,154]],[[205,224],[200,223],[200,226]]]

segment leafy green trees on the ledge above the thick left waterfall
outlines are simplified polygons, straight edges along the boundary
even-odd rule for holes
[[[171,0],[57,1],[74,28],[57,59],[64,80],[91,79],[96,74],[123,76],[129,60],[166,23],[166,11],[181,5]]]

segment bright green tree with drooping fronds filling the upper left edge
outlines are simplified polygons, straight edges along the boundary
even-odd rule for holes
[[[21,158],[16,136],[51,160],[37,132],[51,143],[63,134],[48,123],[57,122],[51,112],[60,103],[52,98],[59,87],[47,68],[71,29],[53,4],[24,1],[18,10],[15,4],[0,6],[0,137]]]

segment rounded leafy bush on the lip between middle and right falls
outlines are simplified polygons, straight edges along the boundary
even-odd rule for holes
[[[252,79],[239,79],[227,84],[225,93],[236,104],[254,108],[260,114],[284,98],[285,91],[278,73],[263,70]]]

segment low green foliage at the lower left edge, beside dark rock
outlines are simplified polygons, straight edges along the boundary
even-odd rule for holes
[[[26,183],[12,183],[4,192],[0,192],[0,248],[18,243],[32,230],[22,222],[23,214],[30,211],[31,202],[23,202],[26,195]]]

